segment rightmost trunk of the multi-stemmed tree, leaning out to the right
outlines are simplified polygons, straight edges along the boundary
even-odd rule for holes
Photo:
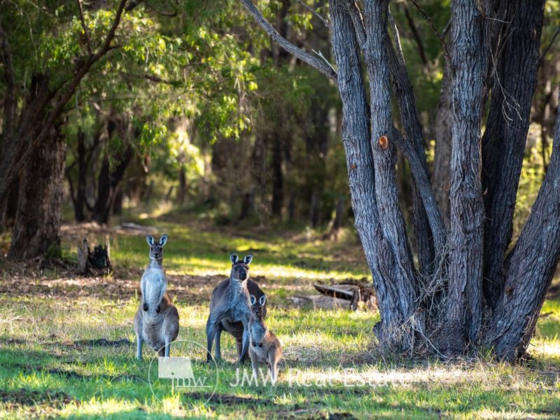
[[[486,345],[502,358],[524,356],[560,259],[560,110],[550,165],[510,255]]]

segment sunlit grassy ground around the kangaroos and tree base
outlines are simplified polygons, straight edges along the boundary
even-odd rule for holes
[[[190,358],[195,378],[209,386],[172,388],[158,379],[151,349],[144,347],[144,361],[134,357],[132,318],[148,261],[144,235],[64,225],[66,260],[76,258],[84,235],[90,243],[109,235],[115,273],[81,277],[64,264],[38,268],[0,260],[0,418],[560,418],[557,280],[526,363],[390,358],[373,349],[378,314],[297,308],[290,300],[313,294],[315,282],[368,277],[350,231],[328,241],[309,230],[224,228],[177,214],[142,217],[131,221],[155,236],[169,234],[164,266],[183,340],[172,346],[172,356]],[[1,246],[3,253],[6,238]],[[267,325],[284,349],[276,386],[236,385],[235,342],[227,334],[224,360],[202,361],[209,296],[228,277],[232,250],[255,255],[251,276],[267,294]],[[251,372],[241,366],[241,377],[244,370]]]

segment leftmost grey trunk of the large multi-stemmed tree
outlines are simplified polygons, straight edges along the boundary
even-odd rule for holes
[[[382,345],[409,348],[412,345],[410,341],[412,335],[400,327],[414,312],[416,290],[412,274],[412,258],[409,258],[407,245],[404,248],[405,258],[401,258],[403,250],[394,246],[393,237],[385,237],[385,235],[395,235],[395,227],[397,229],[402,227],[403,221],[400,209],[398,209],[398,200],[395,200],[398,197],[395,197],[397,191],[393,166],[394,148],[386,151],[377,144],[381,134],[388,135],[391,125],[385,127],[388,123],[387,116],[381,117],[384,121],[376,120],[375,134],[370,136],[370,111],[367,106],[358,42],[351,16],[347,11],[348,5],[337,0],[330,0],[329,4],[332,15],[332,48],[337,62],[338,87],[342,98],[342,141],[346,151],[352,207],[356,230],[360,235],[365,258],[373,274],[381,314],[381,322],[375,326],[374,330]],[[381,15],[381,10],[378,10],[378,15]],[[376,29],[373,26],[372,22],[372,28],[370,28],[373,29],[372,37]],[[356,31],[360,31],[360,29],[356,28]],[[384,33],[385,31],[381,29],[377,34],[375,46],[378,55],[384,54]],[[370,58],[374,59],[374,57]],[[384,61],[381,60],[382,62]],[[384,85],[388,83],[386,69],[382,76],[384,77],[380,83]],[[375,79],[370,78],[370,80]],[[388,85],[384,87],[387,88]],[[387,95],[384,94],[381,100],[386,101]],[[375,102],[372,104],[374,111],[381,111],[378,109],[380,104]],[[372,139],[376,142],[375,144],[371,143]],[[376,176],[374,176],[373,170],[372,148],[375,148],[379,167]],[[389,172],[388,177],[386,177],[387,171],[392,171],[392,173]],[[383,179],[384,176],[385,179]],[[377,181],[377,177],[381,179]],[[389,207],[381,208],[381,211],[388,212],[384,215],[384,223],[387,222],[386,232],[379,223],[376,188],[381,188],[383,193],[387,191],[393,193],[393,197],[388,197],[389,200],[386,200],[391,202]],[[388,220],[394,215],[395,210],[398,211],[397,218]],[[402,240],[406,241],[406,235],[402,236],[398,243],[402,244]]]

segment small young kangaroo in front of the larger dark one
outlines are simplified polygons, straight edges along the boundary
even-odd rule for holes
[[[258,376],[258,363],[266,363],[272,383],[276,381],[278,376],[278,362],[282,357],[282,344],[276,335],[274,335],[262,321],[262,307],[267,302],[267,297],[262,295],[259,300],[251,295],[251,321],[249,321],[249,357],[253,365],[253,376]]]

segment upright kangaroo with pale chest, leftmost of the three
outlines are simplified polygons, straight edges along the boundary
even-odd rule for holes
[[[160,356],[169,357],[171,342],[179,335],[179,312],[167,295],[167,277],[162,267],[167,235],[163,235],[159,242],[154,241],[152,235],[146,235],[146,240],[151,261],[142,274],[142,299],[134,316],[138,360],[142,360],[143,342],[159,351]]]

